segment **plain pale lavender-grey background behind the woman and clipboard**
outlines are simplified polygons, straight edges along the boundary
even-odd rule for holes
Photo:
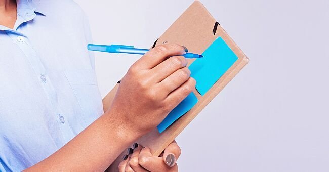
[[[149,48],[193,2],[75,0],[95,44]],[[177,138],[181,171],[329,171],[329,1],[204,0],[250,63]],[[136,55],[96,53],[105,96]]]

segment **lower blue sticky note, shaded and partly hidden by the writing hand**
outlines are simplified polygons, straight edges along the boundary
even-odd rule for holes
[[[192,107],[197,103],[196,96],[191,93],[189,94],[175,109],[173,109],[168,116],[163,119],[163,121],[157,125],[157,130],[162,133],[166,130],[172,123],[174,123],[178,118],[183,116],[186,112],[192,109]]]

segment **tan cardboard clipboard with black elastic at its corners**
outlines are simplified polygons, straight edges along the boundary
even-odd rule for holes
[[[160,155],[196,115],[215,98],[225,85],[248,63],[248,58],[199,1],[195,1],[153,45],[154,47],[162,44],[164,41],[168,41],[184,45],[190,52],[202,54],[218,37],[223,38],[238,57],[238,60],[204,96],[201,96],[194,89],[193,93],[199,101],[189,112],[175,121],[161,134],[159,134],[157,128],[154,128],[152,132],[137,141],[137,143],[149,147],[154,156]],[[193,60],[189,59],[188,65],[192,62]],[[110,107],[118,85],[116,84],[113,90],[103,99],[104,111]]]

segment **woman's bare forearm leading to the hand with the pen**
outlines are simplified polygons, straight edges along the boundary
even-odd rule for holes
[[[26,171],[104,171],[139,136],[118,114],[105,113],[45,160]]]

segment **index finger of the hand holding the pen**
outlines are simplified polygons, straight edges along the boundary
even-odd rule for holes
[[[168,57],[185,53],[185,49],[178,44],[161,44],[148,51],[135,64],[142,69],[152,69]]]

